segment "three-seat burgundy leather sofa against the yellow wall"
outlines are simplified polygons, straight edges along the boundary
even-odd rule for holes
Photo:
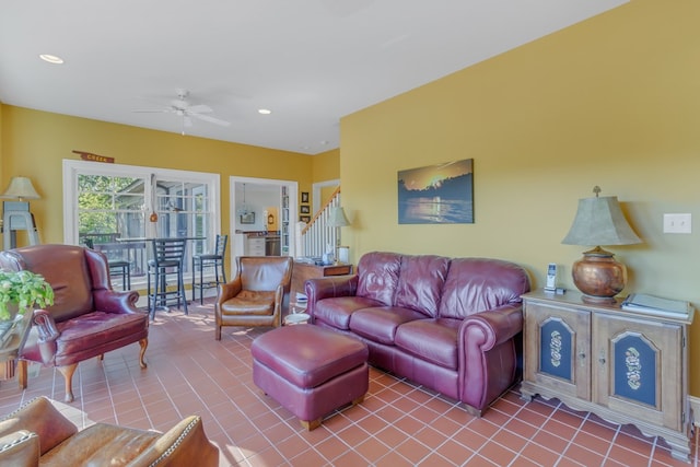
[[[480,416],[520,377],[529,277],[499,259],[368,253],[354,276],[305,283],[312,323],[359,337],[369,363]]]

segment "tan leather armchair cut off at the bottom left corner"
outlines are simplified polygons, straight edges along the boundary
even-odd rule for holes
[[[38,397],[0,420],[0,465],[219,465],[219,450],[190,416],[165,433],[95,423],[79,431],[50,400]]]

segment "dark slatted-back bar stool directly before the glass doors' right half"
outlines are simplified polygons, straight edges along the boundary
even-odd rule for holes
[[[154,238],[153,258],[148,261],[147,287],[149,297],[149,312],[151,319],[155,318],[156,306],[166,307],[170,301],[180,301],[187,312],[187,299],[185,297],[185,282],[183,281],[183,267],[185,264],[185,249],[187,240],[185,238]],[[175,290],[167,290],[167,278],[175,276],[177,287]],[[153,278],[153,291],[151,292],[151,278]]]

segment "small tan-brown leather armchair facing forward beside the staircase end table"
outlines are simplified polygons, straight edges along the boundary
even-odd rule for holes
[[[282,319],[292,282],[291,256],[238,256],[236,276],[219,284],[217,340],[222,326],[275,326]]]

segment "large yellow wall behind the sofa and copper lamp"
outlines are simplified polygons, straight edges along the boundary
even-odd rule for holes
[[[700,2],[635,0],[341,120],[343,244],[514,260],[573,288],[579,198],[618,196],[644,243],[628,291],[700,306]],[[397,171],[474,157],[475,223],[399,225]],[[662,233],[688,212],[692,234]],[[593,246],[593,245],[592,245]],[[691,327],[700,395],[700,319]]]

